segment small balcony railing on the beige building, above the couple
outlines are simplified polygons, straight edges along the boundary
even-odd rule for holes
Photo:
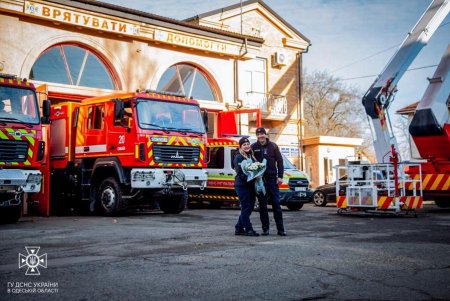
[[[244,105],[259,108],[263,114],[287,115],[287,98],[284,95],[266,94],[261,92],[247,92]]]

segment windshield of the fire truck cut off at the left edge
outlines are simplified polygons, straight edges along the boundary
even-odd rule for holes
[[[34,91],[0,86],[0,121],[39,124],[39,110]]]

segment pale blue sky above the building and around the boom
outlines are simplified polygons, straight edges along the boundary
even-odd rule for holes
[[[182,20],[239,3],[238,0],[102,0]],[[308,71],[327,70],[357,87],[361,96],[379,74],[431,0],[264,0],[312,43]],[[450,15],[411,68],[436,65],[450,43]],[[388,50],[389,49],[389,50]],[[380,53],[381,52],[381,53]],[[370,57],[370,58],[367,58]],[[394,111],[420,100],[436,67],[407,72],[399,82]]]

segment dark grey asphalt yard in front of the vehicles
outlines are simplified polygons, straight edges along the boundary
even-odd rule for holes
[[[0,300],[450,299],[450,210],[336,212],[284,211],[286,237],[235,236],[235,208],[23,217],[0,225]]]

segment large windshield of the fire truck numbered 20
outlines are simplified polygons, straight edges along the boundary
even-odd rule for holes
[[[142,129],[204,133],[200,108],[192,104],[137,99],[136,111]]]

